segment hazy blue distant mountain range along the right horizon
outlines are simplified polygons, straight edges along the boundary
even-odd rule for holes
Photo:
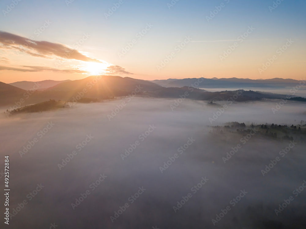
[[[152,80],[163,87],[184,87],[190,86],[198,81],[200,78],[187,79],[166,79],[166,80]],[[300,83],[295,79],[238,79],[238,78],[202,78],[203,81],[199,83],[199,88],[285,88],[293,87]]]

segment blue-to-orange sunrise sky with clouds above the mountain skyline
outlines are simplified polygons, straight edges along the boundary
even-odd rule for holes
[[[302,0],[2,0],[0,81],[299,80],[305,9]]]

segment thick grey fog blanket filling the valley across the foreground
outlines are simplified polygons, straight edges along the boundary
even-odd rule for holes
[[[292,194],[306,179],[305,143],[297,142],[263,176],[261,170],[288,147],[289,140],[254,136],[224,163],[222,157],[241,143],[241,137],[220,135],[211,127],[231,121],[299,124],[306,120],[303,103],[287,102],[274,114],[277,100],[234,102],[211,124],[209,118],[223,104],[185,99],[172,111],[173,99],[133,98],[109,118],[121,102],[77,103],[71,109],[1,116],[0,154],[10,159],[10,213],[27,200],[10,220],[10,228],[49,228],[50,223],[76,229],[305,228],[306,190],[297,197]],[[44,134],[37,135],[39,131]],[[34,138],[38,141],[31,149],[19,153]],[[78,144],[83,146],[80,151]],[[183,153],[178,151],[181,146]],[[130,147],[135,149],[126,156]],[[58,164],[74,150],[77,154],[60,169]],[[161,169],[169,157],[175,161]],[[92,190],[100,174],[104,180]],[[191,188],[203,178],[206,183],[194,193]],[[40,183],[44,187],[29,200],[27,195]],[[131,203],[139,187],[145,190]],[[90,194],[73,207],[86,190]],[[230,201],[241,190],[247,193],[233,206]],[[175,212],[177,201],[188,193],[192,197]],[[274,209],[289,196],[294,200],[277,216]],[[116,218],[114,212],[125,203],[129,206]],[[214,226],[212,220],[227,206],[230,210]]]

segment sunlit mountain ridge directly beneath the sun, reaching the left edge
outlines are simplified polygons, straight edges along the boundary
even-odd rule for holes
[[[138,87],[140,89],[137,89]],[[73,97],[76,98],[77,95],[81,95],[81,98],[107,98],[128,96],[133,91],[137,95],[142,95],[143,91],[155,91],[160,88],[162,87],[147,80],[130,77],[122,78],[120,76],[89,76],[85,79],[68,80],[42,91],[26,91],[6,83],[1,83],[0,106],[18,104],[18,107],[21,107],[44,102],[49,99],[70,101]],[[84,93],[84,91],[86,92]],[[23,99],[21,104],[18,102],[20,99]]]

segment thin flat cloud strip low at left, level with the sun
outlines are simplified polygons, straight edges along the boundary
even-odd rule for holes
[[[24,68],[20,68],[24,67]],[[39,66],[18,66],[18,67],[6,67],[6,66],[0,66],[0,71],[1,70],[11,70],[11,71],[18,71],[18,72],[44,72],[44,71],[49,71],[49,72],[59,72],[59,73],[88,73],[87,71],[82,71],[78,69],[57,69],[57,68],[49,68],[49,67],[39,67]]]

